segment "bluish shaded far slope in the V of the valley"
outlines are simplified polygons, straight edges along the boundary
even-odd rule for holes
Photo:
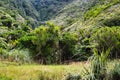
[[[72,0],[31,0],[41,21],[50,20]]]

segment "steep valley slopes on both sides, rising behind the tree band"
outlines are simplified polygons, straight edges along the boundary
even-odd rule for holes
[[[29,22],[33,28],[51,21],[65,27],[65,30],[75,30],[93,24],[101,26],[108,17],[119,17],[120,1],[0,0],[0,10],[16,15],[18,21]]]

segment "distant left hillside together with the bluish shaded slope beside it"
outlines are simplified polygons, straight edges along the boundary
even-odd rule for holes
[[[0,7],[8,13],[20,14],[34,28],[55,17],[70,2],[71,0],[1,0]]]

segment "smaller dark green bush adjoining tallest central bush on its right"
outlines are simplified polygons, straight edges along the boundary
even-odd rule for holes
[[[78,35],[76,33],[65,32],[62,34],[62,39],[60,41],[62,61],[72,59],[77,43]]]

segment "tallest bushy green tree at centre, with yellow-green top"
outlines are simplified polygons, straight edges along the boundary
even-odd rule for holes
[[[43,63],[53,63],[56,62],[58,55],[57,49],[60,39],[60,27],[51,23],[47,25],[48,27],[41,26],[34,30],[36,39],[33,40],[33,43],[37,45],[37,56],[41,56],[39,58],[43,60]]]

